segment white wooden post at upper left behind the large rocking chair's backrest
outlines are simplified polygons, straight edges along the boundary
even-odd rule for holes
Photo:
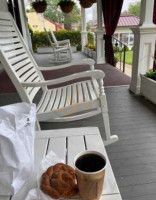
[[[21,17],[23,38],[27,46],[29,47],[29,49],[32,51],[31,36],[28,29],[28,22],[27,22],[27,16],[26,16],[26,11],[25,11],[24,0],[18,0],[18,3],[19,3],[19,12],[20,12],[20,17]]]

